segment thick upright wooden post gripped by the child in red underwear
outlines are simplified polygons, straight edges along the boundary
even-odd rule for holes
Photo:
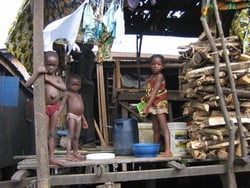
[[[43,62],[43,1],[33,2],[33,68],[36,69]],[[37,187],[47,188],[49,185],[47,125],[45,114],[44,78],[39,78],[34,83],[34,113],[36,134],[37,158]]]

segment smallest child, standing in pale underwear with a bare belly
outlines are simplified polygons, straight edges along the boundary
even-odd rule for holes
[[[63,104],[67,105],[67,122],[69,128],[69,135],[67,139],[67,158],[66,160],[73,161],[82,159],[83,156],[78,152],[79,137],[81,133],[81,126],[84,129],[88,128],[88,123],[83,115],[84,104],[79,93],[81,89],[81,78],[76,74],[72,74],[67,82],[68,90],[66,91]],[[73,147],[73,155],[71,155],[71,147]]]

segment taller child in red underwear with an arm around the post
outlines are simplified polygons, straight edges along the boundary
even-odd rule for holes
[[[58,122],[62,106],[60,100],[62,91],[66,86],[60,76],[57,75],[59,66],[58,54],[54,51],[48,51],[44,54],[45,64],[41,64],[26,82],[26,86],[31,86],[40,74],[44,74],[45,81],[45,104],[48,117],[48,150],[49,164],[63,166],[63,163],[54,159],[55,150],[55,128]]]

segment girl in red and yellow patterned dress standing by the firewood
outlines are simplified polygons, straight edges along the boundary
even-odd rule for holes
[[[160,133],[163,133],[165,140],[165,153],[163,156],[171,156],[170,134],[167,126],[168,102],[166,81],[162,73],[164,57],[160,54],[152,55],[150,58],[152,75],[147,80],[146,94],[142,98],[147,105],[142,110],[143,114],[151,114],[153,123],[154,142],[160,142]]]

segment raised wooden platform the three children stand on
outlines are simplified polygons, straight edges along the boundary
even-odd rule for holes
[[[92,151],[94,153],[96,151]],[[82,151],[86,153],[86,151]],[[116,156],[114,159],[66,161],[63,153],[56,158],[64,167],[50,166],[50,183],[56,185],[98,184],[105,182],[127,182],[156,180],[188,176],[226,174],[226,162],[220,160],[197,161],[187,157]],[[36,158],[29,156],[18,162],[18,171],[13,175],[15,187],[27,187],[36,182]],[[250,172],[250,164],[235,164],[234,171]],[[0,187],[1,187],[0,182]],[[10,186],[11,187],[11,186]]]

